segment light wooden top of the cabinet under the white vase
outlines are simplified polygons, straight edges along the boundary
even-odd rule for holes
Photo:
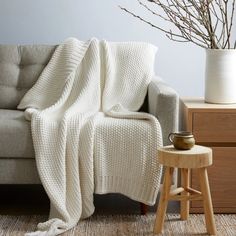
[[[236,104],[206,103],[203,98],[181,98],[184,106],[189,110],[202,112],[236,112]]]

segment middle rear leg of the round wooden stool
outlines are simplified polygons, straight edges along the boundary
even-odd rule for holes
[[[189,187],[189,169],[181,168],[181,186],[183,188]],[[188,196],[188,192],[182,192],[182,196]],[[182,200],[180,202],[180,218],[181,220],[187,220],[189,216],[189,201],[188,200]]]

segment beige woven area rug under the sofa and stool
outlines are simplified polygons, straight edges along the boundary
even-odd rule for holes
[[[42,215],[0,215],[0,235],[21,236],[36,229],[37,222],[46,220]],[[95,215],[79,222],[78,226],[63,236],[124,236],[153,235],[155,214]],[[236,235],[236,215],[215,215],[217,235]],[[164,233],[161,235],[207,235],[204,215],[190,215],[188,221],[180,221],[178,214],[168,214]]]

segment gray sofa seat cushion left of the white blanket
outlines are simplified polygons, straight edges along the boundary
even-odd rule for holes
[[[0,109],[0,158],[34,158],[30,122],[24,112]]]

